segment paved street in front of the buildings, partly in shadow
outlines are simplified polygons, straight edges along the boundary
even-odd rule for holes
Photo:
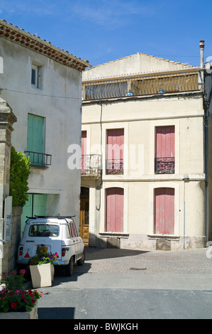
[[[84,266],[55,270],[38,289],[40,319],[212,318],[212,258],[206,249],[146,252],[86,249]],[[101,328],[105,329],[105,328]]]

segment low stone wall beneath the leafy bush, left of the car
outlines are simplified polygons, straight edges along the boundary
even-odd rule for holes
[[[21,239],[21,207],[13,207],[11,219],[11,239],[4,244],[2,272],[11,272],[16,267],[17,249]]]

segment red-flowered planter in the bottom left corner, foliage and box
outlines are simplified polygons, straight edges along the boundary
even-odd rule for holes
[[[2,274],[0,319],[38,319],[38,299],[43,293],[25,289],[25,273],[26,270],[21,270],[19,274],[16,271]]]

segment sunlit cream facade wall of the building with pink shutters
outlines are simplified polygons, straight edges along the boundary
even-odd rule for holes
[[[93,210],[90,228],[102,244],[105,231],[106,188],[124,189],[121,247],[155,249],[161,236],[154,230],[154,190],[174,188],[174,235],[172,249],[203,247],[205,242],[205,174],[203,154],[202,95],[167,95],[113,101],[83,102],[82,130],[87,131],[87,153],[101,153],[103,161],[101,210]],[[175,173],[155,174],[155,126],[174,125]],[[124,129],[124,173],[106,175],[106,130]],[[101,146],[102,142],[102,146]],[[189,178],[189,181],[184,181]],[[82,183],[83,183],[82,178]],[[87,186],[96,186],[93,183]],[[85,183],[84,183],[85,184]],[[97,194],[92,192],[93,195]],[[91,196],[90,196],[91,198]],[[97,200],[97,199],[96,199]],[[91,208],[92,205],[92,208]],[[99,221],[97,221],[99,220]]]

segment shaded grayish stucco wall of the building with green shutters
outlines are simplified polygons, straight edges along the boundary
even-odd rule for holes
[[[31,168],[29,193],[48,194],[48,215],[76,215],[79,227],[80,171],[70,170],[67,148],[80,145],[82,73],[45,55],[0,38],[4,60],[1,97],[16,114],[12,144],[27,149],[28,113],[45,119],[45,153],[52,154],[47,169]],[[42,67],[40,89],[31,85],[31,65]]]

